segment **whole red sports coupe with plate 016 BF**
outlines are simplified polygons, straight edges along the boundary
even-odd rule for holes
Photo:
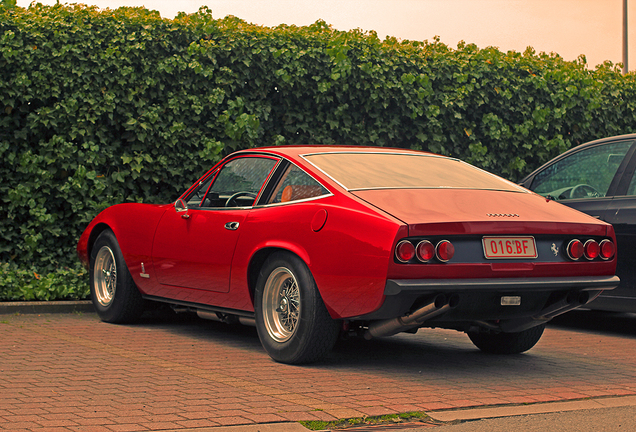
[[[146,301],[254,324],[284,363],[341,334],[441,327],[532,348],[619,283],[611,225],[457,159],[389,148],[236,152],[176,202],[100,213],[77,251],[101,319]]]

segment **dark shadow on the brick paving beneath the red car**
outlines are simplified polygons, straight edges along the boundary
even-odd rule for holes
[[[137,325],[231,346],[247,355],[258,354],[269,360],[254,327],[204,320],[194,313],[175,314],[165,308],[146,313]],[[266,364],[270,364],[269,361]],[[398,369],[395,368],[397,364]],[[476,367],[486,375],[491,371],[493,374],[510,373],[520,378],[542,370],[549,372],[552,366],[551,360],[532,350],[518,355],[490,355],[479,351],[463,333],[431,329],[372,340],[362,337],[341,339],[323,360],[309,365],[312,369],[343,372],[386,373],[392,370],[391,375],[408,376],[430,374],[431,370],[446,375],[463,371],[466,367]]]

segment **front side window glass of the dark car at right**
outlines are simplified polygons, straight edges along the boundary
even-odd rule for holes
[[[530,189],[555,200],[604,197],[631,145],[622,141],[574,153],[537,174]]]

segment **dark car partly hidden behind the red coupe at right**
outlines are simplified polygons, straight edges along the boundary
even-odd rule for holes
[[[614,226],[621,282],[585,307],[636,312],[636,134],[581,144],[541,166],[521,185]]]

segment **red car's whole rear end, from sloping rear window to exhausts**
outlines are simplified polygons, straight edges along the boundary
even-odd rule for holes
[[[307,158],[404,223],[368,337],[419,327],[519,333],[618,284],[611,225],[456,159],[402,152]]]

